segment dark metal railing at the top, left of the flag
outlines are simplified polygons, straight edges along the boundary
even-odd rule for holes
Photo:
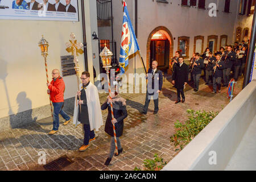
[[[97,0],[97,18],[112,20],[112,0]]]

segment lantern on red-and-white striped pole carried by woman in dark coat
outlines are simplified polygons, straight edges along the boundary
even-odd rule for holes
[[[110,79],[109,79],[109,70],[112,67],[111,61],[112,61],[113,53],[106,47],[106,43],[105,43],[104,49],[100,53],[100,56],[101,56],[102,65],[103,65],[102,68],[105,68],[106,74],[108,76],[109,98],[110,98],[110,100],[112,100],[112,97],[110,95],[111,87],[110,87]],[[112,115],[112,120],[113,120],[114,119],[114,112],[113,112],[113,104],[112,104],[112,102],[110,102],[110,107],[111,107],[111,115]],[[116,154],[118,154],[117,135],[115,134],[115,125],[113,123],[112,123],[112,125],[113,125],[113,131],[114,131],[114,139],[115,139],[115,150],[117,152]]]

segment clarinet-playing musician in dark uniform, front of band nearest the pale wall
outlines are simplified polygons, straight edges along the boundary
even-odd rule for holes
[[[216,55],[216,61],[213,61],[212,69],[213,69],[213,92],[216,93],[217,85],[218,92],[220,93],[221,89],[221,77],[222,77],[222,69],[224,69],[224,61],[220,59],[221,55]]]

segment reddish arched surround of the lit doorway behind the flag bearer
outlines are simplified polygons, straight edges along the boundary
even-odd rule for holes
[[[152,39],[152,36],[158,32],[158,31],[164,31],[166,32],[167,34],[167,38],[170,42],[170,54],[169,54],[169,60],[171,60],[172,56],[173,56],[173,53],[174,53],[174,39],[172,38],[172,34],[170,32],[170,30],[168,30],[168,28],[164,27],[164,26],[159,26],[159,27],[156,27],[154,30],[152,30],[150,32],[150,35],[148,36],[148,39],[147,39],[147,63],[146,63],[146,67],[147,69],[150,68],[150,43],[151,43],[151,39]]]

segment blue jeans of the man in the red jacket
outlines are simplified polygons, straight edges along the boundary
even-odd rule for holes
[[[60,126],[60,121],[59,121],[59,114],[65,119],[65,121],[68,121],[69,119],[71,119],[68,114],[66,114],[63,110],[62,110],[62,106],[63,106],[64,102],[52,102],[53,105],[53,129],[52,130],[59,130],[59,126]]]

